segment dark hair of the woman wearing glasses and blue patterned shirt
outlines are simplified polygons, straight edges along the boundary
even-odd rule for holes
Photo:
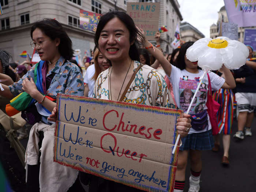
[[[31,27],[30,36],[33,38],[33,31],[38,28],[50,39],[54,40],[60,38],[60,45],[58,46],[60,55],[69,60],[72,58],[74,50],[72,49],[72,41],[62,25],[55,19],[45,18],[37,21]]]

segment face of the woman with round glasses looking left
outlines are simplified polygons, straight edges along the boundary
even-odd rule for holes
[[[35,50],[39,53],[40,59],[43,61],[54,61],[56,55],[59,55],[59,39],[52,41],[50,37],[46,36],[39,28],[33,31],[32,36],[34,42],[41,44],[41,48],[38,45],[35,47]]]

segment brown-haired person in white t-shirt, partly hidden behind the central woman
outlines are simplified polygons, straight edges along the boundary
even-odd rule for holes
[[[90,65],[86,70],[83,82],[84,97],[93,97],[93,89],[98,75],[110,67],[108,60],[99,52],[98,49],[94,52],[94,64]]]

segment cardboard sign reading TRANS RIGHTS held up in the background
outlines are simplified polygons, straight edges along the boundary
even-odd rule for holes
[[[144,30],[148,40],[154,40],[158,31],[159,11],[160,3],[127,2],[127,14]]]

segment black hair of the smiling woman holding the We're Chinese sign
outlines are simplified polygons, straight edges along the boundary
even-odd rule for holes
[[[98,20],[98,25],[97,25],[97,30],[95,32],[94,36],[94,43],[99,49],[99,35],[101,34],[102,29],[106,25],[106,23],[109,22],[109,20],[117,17],[118,19],[121,20],[121,22],[124,23],[124,25],[127,27],[129,30],[129,40],[130,42],[134,43],[130,46],[129,49],[129,56],[131,57],[132,60],[139,61],[140,60],[140,55],[139,55],[139,41],[137,37],[142,41],[145,42],[144,36],[140,33],[140,31],[136,28],[132,18],[127,15],[125,12],[121,11],[111,11],[107,12],[99,17]],[[110,61],[109,61],[110,62]],[[111,63],[111,62],[110,62]]]

